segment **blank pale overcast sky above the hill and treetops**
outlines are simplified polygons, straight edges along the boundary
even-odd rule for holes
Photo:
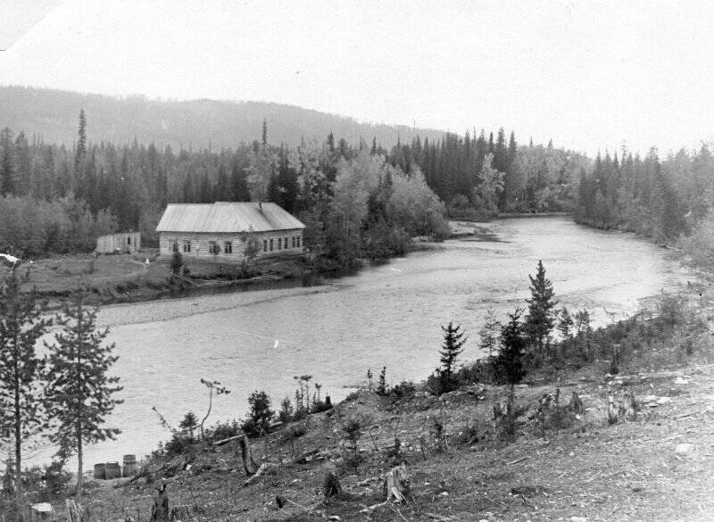
[[[40,0],[37,10],[48,4],[0,53],[0,83],[504,127],[521,143],[591,153],[714,138],[710,2]]]

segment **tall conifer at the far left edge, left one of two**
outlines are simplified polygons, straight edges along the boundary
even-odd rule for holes
[[[46,428],[41,389],[45,360],[37,357],[37,339],[51,321],[43,319],[46,302],[33,289],[21,293],[22,280],[12,270],[0,282],[0,442],[11,443],[15,501],[22,503],[23,443]]]

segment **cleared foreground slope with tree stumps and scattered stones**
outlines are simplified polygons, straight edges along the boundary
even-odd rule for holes
[[[686,319],[648,337],[616,376],[599,360],[527,377],[514,390],[512,424],[494,419],[508,400],[503,386],[439,398],[421,386],[365,389],[253,439],[260,476],[245,476],[237,441],[198,444],[147,461],[133,482],[90,482],[87,519],[145,520],[165,485],[187,520],[710,520],[714,309],[709,295],[687,299]],[[662,324],[628,331],[643,340]],[[625,404],[615,423],[610,393]],[[385,501],[384,477],[399,463],[407,500]],[[326,499],[330,472],[343,493]]]

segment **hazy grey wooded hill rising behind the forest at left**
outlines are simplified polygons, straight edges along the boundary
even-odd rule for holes
[[[444,131],[393,125],[371,125],[353,118],[312,111],[294,105],[264,102],[214,100],[164,101],[129,96],[87,95],[35,87],[0,87],[0,128],[15,135],[41,135],[46,143],[71,145],[77,139],[79,109],[87,113],[87,137],[125,144],[136,137],[139,143],[189,146],[194,150],[235,147],[240,142],[260,139],[262,120],[268,121],[268,141],[273,145],[297,145],[301,139],[322,142],[330,131],[335,139],[357,145],[372,137],[390,148],[397,138],[411,142],[441,138]]]

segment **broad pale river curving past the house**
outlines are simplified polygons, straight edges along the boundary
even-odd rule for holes
[[[440,325],[451,319],[469,335],[462,360],[475,360],[486,309],[501,317],[528,295],[528,274],[543,260],[560,304],[588,309],[597,323],[635,312],[640,299],[671,291],[693,275],[677,254],[643,239],[578,226],[566,217],[496,220],[498,241],[446,241],[323,286],[213,294],[104,307],[99,323],[120,356],[113,371],[124,400],[108,419],[114,442],[87,448],[94,462],[139,457],[187,410],[203,417],[203,377],[231,394],[214,398],[207,425],[241,418],[253,390],[274,409],[311,375],[322,394],[344,398],[386,366],[387,382],[419,381],[438,364]]]

